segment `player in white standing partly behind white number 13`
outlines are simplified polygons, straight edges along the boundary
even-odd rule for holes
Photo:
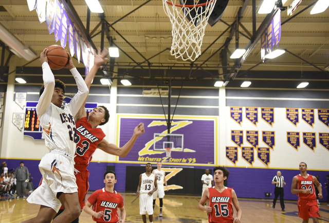
[[[162,167],[161,161],[159,161],[156,164],[156,166],[157,166],[157,169],[154,169],[152,171],[152,173],[157,178],[156,183],[158,185],[158,189],[153,193],[153,210],[154,210],[154,206],[155,206],[156,197],[159,195],[159,201],[160,201],[159,217],[162,217],[162,205],[163,205],[162,198],[165,196],[165,190],[163,189],[163,183],[165,183],[167,191],[169,191],[169,189],[168,189],[167,180],[166,180],[166,172],[161,170],[161,167]]]

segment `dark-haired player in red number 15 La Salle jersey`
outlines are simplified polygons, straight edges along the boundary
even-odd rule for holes
[[[206,188],[198,208],[208,213],[209,223],[241,223],[242,210],[235,191],[224,186],[224,180],[228,178],[230,172],[225,167],[216,167],[213,171],[215,186]],[[207,199],[209,206],[205,206]],[[232,204],[237,212],[235,218]]]

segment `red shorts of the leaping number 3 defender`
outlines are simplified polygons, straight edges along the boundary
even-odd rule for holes
[[[83,170],[76,172],[75,171],[75,176],[77,178],[77,185],[78,185],[78,196],[79,196],[79,203],[81,210],[83,209],[85,205],[85,196],[88,193],[89,190],[89,183],[88,183],[88,178],[89,178],[89,171],[88,170]]]

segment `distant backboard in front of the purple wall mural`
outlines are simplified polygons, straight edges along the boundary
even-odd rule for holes
[[[166,148],[172,148],[172,151],[184,150],[183,134],[154,133],[153,149],[156,151],[165,151]]]

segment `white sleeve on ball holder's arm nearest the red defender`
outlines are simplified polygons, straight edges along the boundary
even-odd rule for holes
[[[72,115],[76,116],[81,106],[83,105],[84,100],[88,96],[89,90],[77,68],[72,68],[70,71],[76,80],[78,93],[71,99],[71,102],[69,103],[69,108],[72,112]]]

